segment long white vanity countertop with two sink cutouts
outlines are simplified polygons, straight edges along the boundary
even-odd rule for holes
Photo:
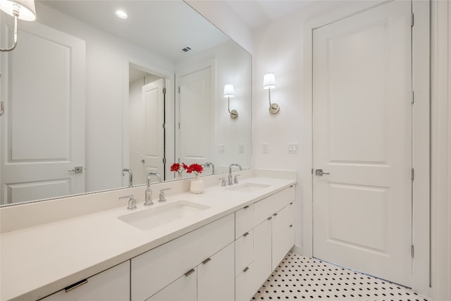
[[[166,197],[167,203],[187,200],[210,208],[148,231],[118,219],[149,209],[137,202],[138,209],[133,211],[124,205],[3,233],[0,300],[37,300],[283,190],[296,180],[253,177],[242,179],[242,183],[269,186],[255,192],[238,192],[215,185],[201,195],[171,195]],[[154,200],[154,207],[164,204]]]

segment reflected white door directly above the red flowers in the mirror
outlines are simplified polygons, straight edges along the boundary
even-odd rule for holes
[[[179,77],[178,158],[185,164],[204,164],[211,158],[214,101],[211,66]]]

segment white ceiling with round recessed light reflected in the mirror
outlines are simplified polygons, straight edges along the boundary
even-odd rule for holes
[[[152,51],[174,63],[229,38],[182,1],[39,0],[42,4]],[[115,16],[122,9],[129,18]],[[200,34],[199,34],[200,33]],[[189,52],[182,51],[190,47]]]

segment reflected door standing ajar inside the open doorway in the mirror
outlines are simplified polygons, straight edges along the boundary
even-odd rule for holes
[[[142,86],[144,113],[144,173],[159,173],[164,176],[164,94],[165,80],[160,79]]]

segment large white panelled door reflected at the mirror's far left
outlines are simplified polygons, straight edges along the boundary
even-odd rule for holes
[[[85,192],[85,42],[37,22],[18,36],[1,52],[0,203]]]

